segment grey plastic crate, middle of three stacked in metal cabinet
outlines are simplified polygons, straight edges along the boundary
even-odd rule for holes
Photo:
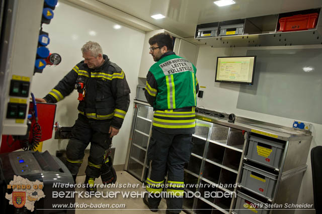
[[[240,185],[266,198],[274,197],[278,175],[244,164]]]

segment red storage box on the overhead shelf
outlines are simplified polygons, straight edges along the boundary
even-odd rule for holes
[[[281,18],[278,21],[280,23],[280,29],[278,31],[302,31],[315,28],[317,17],[318,14],[313,13]]]

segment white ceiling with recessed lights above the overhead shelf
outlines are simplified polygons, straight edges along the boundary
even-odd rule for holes
[[[194,37],[196,25],[244,19],[322,7],[322,0],[234,0],[235,5],[217,7],[214,0],[97,0],[182,37]],[[161,6],[160,6],[160,3]],[[168,10],[154,20],[150,11]]]

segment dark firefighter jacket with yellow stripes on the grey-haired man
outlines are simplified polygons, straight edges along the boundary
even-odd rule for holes
[[[111,126],[120,129],[130,103],[130,88],[123,70],[103,55],[104,64],[91,69],[84,60],[75,65],[62,80],[44,97],[55,103],[74,90],[75,83],[84,82],[84,100],[79,101],[78,111],[89,119],[112,119]]]

